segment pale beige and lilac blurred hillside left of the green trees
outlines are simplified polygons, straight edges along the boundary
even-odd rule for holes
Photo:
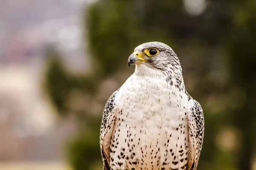
[[[0,1],[0,170],[70,169],[65,148],[76,120],[58,118],[43,89],[45,50],[58,49],[74,72],[86,70],[81,17],[91,2]]]

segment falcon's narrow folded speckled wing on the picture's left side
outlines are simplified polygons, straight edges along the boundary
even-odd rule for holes
[[[117,90],[118,91],[118,90]],[[116,120],[114,99],[117,91],[115,91],[108,99],[102,116],[102,124],[100,128],[100,148],[103,160],[103,170],[110,170],[110,143],[113,133],[113,127]]]

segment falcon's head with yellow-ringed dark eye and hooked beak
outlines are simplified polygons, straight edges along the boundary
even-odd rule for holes
[[[155,71],[172,72],[180,69],[180,61],[171,47],[162,42],[146,42],[134,49],[128,59],[128,65],[136,65],[140,70],[151,68]]]

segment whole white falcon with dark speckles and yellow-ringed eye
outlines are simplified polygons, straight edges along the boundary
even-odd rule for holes
[[[103,111],[103,170],[196,170],[204,115],[186,91],[177,55],[162,42],[146,42],[128,58],[131,65],[134,74]]]

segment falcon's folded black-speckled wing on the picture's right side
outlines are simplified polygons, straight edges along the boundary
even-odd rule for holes
[[[196,170],[204,139],[204,114],[201,105],[194,99],[188,105],[189,148],[188,170]]]

